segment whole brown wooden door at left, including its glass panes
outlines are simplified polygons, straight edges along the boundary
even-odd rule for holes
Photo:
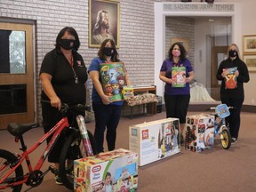
[[[0,22],[0,130],[35,122],[33,25]]]

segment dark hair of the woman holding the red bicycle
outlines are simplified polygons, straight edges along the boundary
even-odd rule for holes
[[[74,48],[72,51],[77,52],[80,46],[80,40],[79,40],[78,34],[76,33],[75,28],[71,28],[71,27],[65,27],[60,30],[58,36],[56,37],[56,44],[55,44],[56,49],[60,51],[60,39],[62,36],[64,36],[66,32],[68,32],[68,34],[70,34],[71,36],[75,36],[76,42],[74,44]]]

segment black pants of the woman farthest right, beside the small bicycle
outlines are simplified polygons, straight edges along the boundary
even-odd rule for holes
[[[222,103],[225,103],[228,107],[235,107],[230,109],[230,116],[226,117],[229,127],[231,137],[238,138],[239,129],[240,129],[240,113],[243,106],[244,98],[242,99],[232,99],[232,98],[223,98],[220,97]]]

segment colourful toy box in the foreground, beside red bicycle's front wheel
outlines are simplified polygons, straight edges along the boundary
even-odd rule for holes
[[[132,192],[138,188],[138,154],[120,148],[74,161],[74,191]]]

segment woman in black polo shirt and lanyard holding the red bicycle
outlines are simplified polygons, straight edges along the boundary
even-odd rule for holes
[[[43,86],[42,115],[44,132],[48,132],[61,116],[58,115],[61,103],[76,105],[85,104],[87,68],[82,56],[77,52],[80,46],[79,37],[74,28],[62,28],[56,38],[55,49],[48,52],[40,70],[40,80]],[[81,112],[81,115],[84,114]],[[68,120],[71,121],[68,116]],[[50,140],[50,139],[49,139]],[[49,141],[47,140],[47,141]],[[59,168],[60,149],[64,140],[60,137],[49,155],[48,161]],[[60,177],[55,177],[56,183],[61,184]]]

